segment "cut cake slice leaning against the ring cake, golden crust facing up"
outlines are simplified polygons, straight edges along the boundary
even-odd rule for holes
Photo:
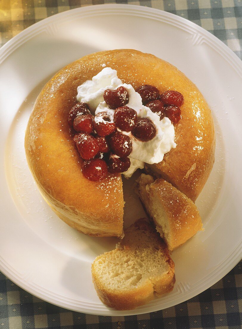
[[[196,205],[164,179],[154,181],[152,176],[141,174],[136,192],[169,250],[202,230]]]

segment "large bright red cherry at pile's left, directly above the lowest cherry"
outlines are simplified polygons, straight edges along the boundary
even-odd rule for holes
[[[84,160],[90,160],[99,152],[99,144],[95,137],[88,134],[78,134],[74,136],[76,147]]]

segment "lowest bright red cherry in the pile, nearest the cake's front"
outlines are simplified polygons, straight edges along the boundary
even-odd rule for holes
[[[101,181],[107,176],[108,166],[102,159],[91,159],[90,161],[83,162],[82,173],[91,181]]]

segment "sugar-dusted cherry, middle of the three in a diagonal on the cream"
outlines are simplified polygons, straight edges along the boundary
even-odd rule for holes
[[[122,106],[115,110],[113,119],[119,129],[131,131],[137,123],[137,112],[128,106]]]

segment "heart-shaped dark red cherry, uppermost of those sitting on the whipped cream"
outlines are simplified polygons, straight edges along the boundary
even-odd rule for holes
[[[108,107],[113,110],[120,106],[126,105],[129,102],[128,91],[123,86],[115,90],[106,89],[104,91],[103,98]]]

